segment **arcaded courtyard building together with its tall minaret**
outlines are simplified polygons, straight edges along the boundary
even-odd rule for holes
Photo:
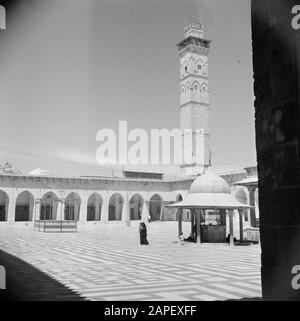
[[[203,25],[192,22],[178,44],[180,57],[180,122],[183,147],[192,155],[182,165],[183,178],[164,179],[157,173],[124,172],[124,178],[57,177],[23,175],[17,171],[0,174],[0,224],[30,224],[36,220],[70,220],[80,224],[132,220],[176,220],[177,210],[166,205],[184,200],[197,175],[210,165],[208,52]],[[5,168],[10,169],[7,165]],[[245,204],[255,206],[255,189],[238,185],[256,168],[227,173],[223,178],[232,193]],[[252,171],[252,172],[251,172]],[[255,173],[254,173],[255,174]],[[252,175],[253,176],[253,175]],[[257,211],[256,211],[257,214]],[[184,210],[183,220],[190,213]],[[245,227],[255,226],[248,211]],[[237,230],[238,230],[238,223]]]

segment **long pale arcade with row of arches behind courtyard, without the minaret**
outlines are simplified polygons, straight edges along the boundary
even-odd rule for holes
[[[254,197],[246,186],[233,184],[247,171],[222,176],[242,203]],[[195,177],[186,179],[131,179],[0,175],[0,224],[31,224],[35,220],[75,220],[78,224],[177,220],[177,210],[166,205],[183,200]],[[236,213],[238,216],[238,213]],[[258,212],[256,210],[256,215]],[[185,210],[183,220],[190,219]],[[236,231],[238,218],[236,217]],[[253,225],[244,213],[245,228]]]

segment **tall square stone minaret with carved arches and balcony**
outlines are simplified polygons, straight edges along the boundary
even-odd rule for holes
[[[199,175],[209,167],[208,52],[210,40],[203,38],[203,25],[191,22],[185,38],[177,44],[180,57],[180,126],[183,130],[185,175]]]

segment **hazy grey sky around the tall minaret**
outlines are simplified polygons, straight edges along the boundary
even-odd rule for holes
[[[14,3],[0,30],[0,164],[24,173],[42,167],[107,175],[120,167],[97,165],[100,129],[118,132],[120,120],[129,130],[179,128],[176,44],[198,17],[212,41],[212,163],[224,170],[255,165],[249,0]]]

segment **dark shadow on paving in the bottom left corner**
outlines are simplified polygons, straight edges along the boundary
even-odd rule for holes
[[[23,260],[0,250],[0,265],[6,269],[4,301],[84,301],[85,298]]]

